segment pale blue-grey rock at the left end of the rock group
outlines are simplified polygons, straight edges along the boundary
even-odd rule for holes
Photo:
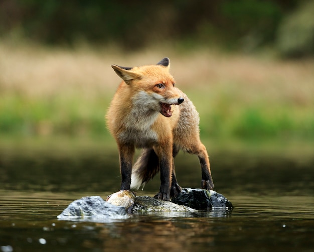
[[[61,220],[81,218],[91,221],[124,219],[128,215],[123,206],[112,205],[100,196],[83,197],[75,200],[57,216]]]

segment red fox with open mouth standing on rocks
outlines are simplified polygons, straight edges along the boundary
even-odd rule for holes
[[[175,87],[170,60],[156,65],[111,65],[123,80],[109,106],[108,129],[117,142],[121,190],[138,189],[160,171],[160,192],[170,200],[181,191],[174,158],[182,149],[198,156],[202,188],[213,189],[209,158],[199,136],[199,114],[186,94]],[[135,148],[143,149],[132,167]]]

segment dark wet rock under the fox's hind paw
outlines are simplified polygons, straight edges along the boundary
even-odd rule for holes
[[[183,188],[172,202],[198,210],[212,208],[232,209],[232,203],[220,193],[213,190]]]

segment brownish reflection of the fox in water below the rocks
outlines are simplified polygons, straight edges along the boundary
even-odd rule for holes
[[[99,237],[107,249],[138,251],[187,251],[196,243],[213,244],[213,227],[195,218],[173,220],[140,220],[130,225],[103,227]],[[204,247],[205,248],[205,247]]]

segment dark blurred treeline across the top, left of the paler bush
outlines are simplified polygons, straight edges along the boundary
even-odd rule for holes
[[[0,32],[49,44],[118,43],[139,48],[169,39],[229,47],[273,43],[298,0],[2,0]]]

